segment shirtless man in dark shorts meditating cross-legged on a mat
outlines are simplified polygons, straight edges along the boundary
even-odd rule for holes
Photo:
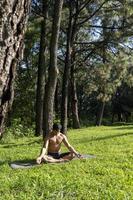
[[[60,132],[61,126],[59,124],[53,125],[53,131],[49,134],[43,144],[43,148],[36,162],[60,163],[72,160],[75,156],[78,158],[81,155],[69,144],[67,137]],[[69,152],[60,153],[61,144],[69,149]]]

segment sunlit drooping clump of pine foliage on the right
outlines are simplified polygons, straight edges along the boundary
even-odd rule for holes
[[[95,63],[93,68],[88,70],[86,92],[90,94],[95,91],[98,100],[109,101],[126,77],[129,68],[128,59],[122,54],[114,58],[109,57],[107,63]]]

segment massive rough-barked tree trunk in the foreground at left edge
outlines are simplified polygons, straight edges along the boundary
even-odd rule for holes
[[[30,0],[0,1],[0,133],[13,101],[13,81],[21,58]]]

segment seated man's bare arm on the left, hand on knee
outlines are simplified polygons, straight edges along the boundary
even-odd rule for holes
[[[39,156],[37,157],[37,159],[36,159],[36,162],[37,162],[38,164],[41,163],[42,158],[44,157],[44,155],[47,154],[48,144],[49,144],[49,139],[46,138],[45,141],[44,141],[43,147],[42,147],[42,149],[41,149],[40,155],[39,155]]]

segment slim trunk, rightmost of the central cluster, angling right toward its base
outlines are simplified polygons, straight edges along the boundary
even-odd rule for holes
[[[74,76],[74,63],[71,65],[71,108],[72,108],[73,128],[80,128],[79,115],[78,115],[77,89]]]

